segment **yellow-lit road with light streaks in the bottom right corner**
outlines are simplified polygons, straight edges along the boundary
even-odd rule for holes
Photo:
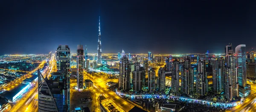
[[[242,104],[227,110],[227,112],[256,112],[256,94],[253,95],[256,92],[256,84],[251,84],[251,90],[251,94],[245,98]]]

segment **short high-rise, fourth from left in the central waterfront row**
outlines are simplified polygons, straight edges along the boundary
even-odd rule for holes
[[[157,88],[161,92],[164,92],[166,89],[165,71],[162,67],[158,70]]]

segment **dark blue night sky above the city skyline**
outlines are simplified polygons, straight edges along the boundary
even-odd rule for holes
[[[79,43],[96,53],[99,15],[102,53],[256,48],[255,0],[150,1],[1,0],[0,55],[48,53],[60,44],[75,53]]]

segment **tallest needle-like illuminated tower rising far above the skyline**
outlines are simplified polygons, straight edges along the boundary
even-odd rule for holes
[[[97,64],[102,64],[101,34],[100,34],[100,17],[99,17],[99,35],[98,35],[98,54],[97,54]]]

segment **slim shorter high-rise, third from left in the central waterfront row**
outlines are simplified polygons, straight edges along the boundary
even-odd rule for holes
[[[156,72],[150,68],[148,71],[148,91],[150,93],[155,92],[156,89]]]

